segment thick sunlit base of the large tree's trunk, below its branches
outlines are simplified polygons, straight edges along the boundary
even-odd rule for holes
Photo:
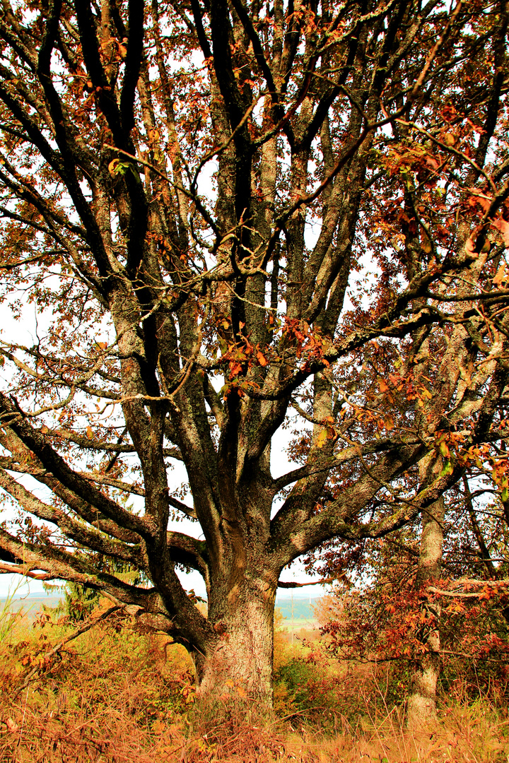
[[[235,598],[211,603],[217,636],[195,660],[198,698],[207,705],[226,701],[233,708],[249,706],[255,714],[272,709],[275,595],[257,594],[246,586]]]

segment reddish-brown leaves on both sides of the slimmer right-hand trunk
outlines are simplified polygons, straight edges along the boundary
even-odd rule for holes
[[[498,565],[499,580],[493,581],[486,571],[482,574],[482,562],[465,553],[464,538],[464,555],[458,553],[461,528],[451,524],[448,529],[445,574],[430,587],[416,585],[418,552],[408,530],[362,549],[357,560],[362,559],[362,574],[356,584],[343,584],[321,607],[321,633],[327,650],[340,660],[391,666],[393,698],[403,701],[411,691],[414,665],[433,651],[428,637],[437,631],[442,691],[461,685],[463,699],[475,698],[482,691],[505,701],[509,687],[507,562]],[[466,577],[480,572],[480,580]]]

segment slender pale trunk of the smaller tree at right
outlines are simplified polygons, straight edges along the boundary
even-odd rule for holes
[[[443,498],[423,513],[420,538],[417,588],[440,578],[443,549]],[[420,729],[437,718],[437,681],[440,678],[440,604],[424,599],[425,615],[422,640],[427,652],[414,662],[411,694],[408,699],[409,729]]]

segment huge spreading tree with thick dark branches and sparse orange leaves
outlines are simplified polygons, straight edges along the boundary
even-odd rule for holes
[[[2,343],[2,570],[270,706],[285,566],[413,522],[506,436],[506,30],[503,2],[5,0],[4,298],[43,336]]]

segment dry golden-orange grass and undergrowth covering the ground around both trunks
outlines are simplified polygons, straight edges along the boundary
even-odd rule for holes
[[[72,633],[56,620],[7,608],[0,616],[2,763],[509,759],[506,710],[487,697],[442,697],[439,725],[411,735],[390,668],[327,658],[316,629],[292,644],[281,613],[275,717],[265,723],[198,715],[192,664],[167,636],[108,620],[55,651]]]

